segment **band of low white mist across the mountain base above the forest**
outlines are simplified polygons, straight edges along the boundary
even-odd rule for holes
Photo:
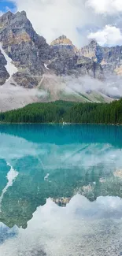
[[[40,77],[42,80],[42,77]],[[48,102],[58,99],[64,99],[62,93],[67,99],[72,95],[71,100],[82,101],[82,95],[89,98],[92,92],[102,95],[105,102],[113,98],[122,97],[122,77],[109,76],[104,81],[91,78],[90,76],[56,76],[45,74],[43,82],[39,83],[37,88],[24,88],[9,80],[0,87],[0,111],[9,109],[18,109],[33,102]],[[81,95],[82,94],[82,95]],[[109,97],[108,97],[109,96]],[[62,97],[62,98],[61,98]],[[96,98],[90,98],[95,102]]]

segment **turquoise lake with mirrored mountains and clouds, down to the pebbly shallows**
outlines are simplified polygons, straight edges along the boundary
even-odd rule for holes
[[[122,255],[122,127],[0,125],[0,256]]]

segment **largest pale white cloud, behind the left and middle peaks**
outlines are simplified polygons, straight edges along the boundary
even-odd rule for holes
[[[79,0],[14,0],[14,2],[18,10],[24,9],[27,12],[36,32],[43,35],[48,43],[65,34],[73,43],[81,45],[77,28],[82,28],[90,15],[89,11],[85,11],[86,0],[81,2]]]

